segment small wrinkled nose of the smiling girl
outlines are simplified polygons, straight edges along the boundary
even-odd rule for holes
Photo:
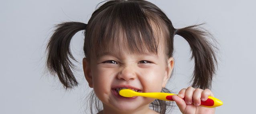
[[[134,80],[136,78],[135,70],[131,67],[124,67],[117,76],[120,80]]]

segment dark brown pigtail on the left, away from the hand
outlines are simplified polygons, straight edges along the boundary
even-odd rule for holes
[[[57,24],[47,44],[47,70],[52,75],[58,75],[65,89],[72,88],[78,84],[71,71],[74,64],[71,63],[69,57],[73,60],[75,60],[75,58],[71,54],[69,45],[75,33],[80,30],[85,30],[86,26],[87,24],[81,22],[63,22]]]

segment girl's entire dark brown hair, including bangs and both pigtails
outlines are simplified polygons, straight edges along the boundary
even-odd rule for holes
[[[149,51],[156,54],[158,42],[163,40],[168,59],[173,56],[174,35],[182,36],[191,47],[191,60],[192,58],[195,60],[195,69],[191,79],[193,81],[192,86],[211,89],[211,81],[215,74],[215,66],[217,66],[214,49],[217,48],[209,42],[211,39],[208,38],[212,37],[209,32],[199,27],[200,24],[175,29],[165,13],[148,1],[106,1],[103,1],[106,3],[93,12],[87,24],[63,22],[55,26],[56,29],[47,44],[46,64],[47,70],[52,75],[57,74],[65,89],[78,84],[71,71],[71,68],[75,66],[69,57],[73,60],[75,58],[71,54],[69,44],[74,34],[80,30],[85,30],[83,50],[89,61],[91,57],[97,56],[103,51],[111,50],[113,46],[119,46],[118,40],[120,38],[126,40],[131,52]],[[171,93],[167,88],[163,88],[162,92]],[[89,99],[91,113],[93,113],[93,104],[95,104],[98,112],[102,110],[102,106],[93,91]],[[170,102],[156,99],[150,106],[156,112],[165,114],[169,106],[172,105]]]

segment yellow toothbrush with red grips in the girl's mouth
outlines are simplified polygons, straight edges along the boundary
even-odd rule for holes
[[[140,93],[130,89],[120,90],[119,94],[124,97],[143,96],[143,97],[156,98],[159,100],[166,100],[166,101],[174,101],[172,96],[177,95],[177,94],[163,93],[163,92]],[[185,100],[185,98],[183,98],[183,100]],[[221,106],[222,104],[223,102],[221,100],[214,98],[212,96],[208,96],[208,99],[206,101],[201,100],[200,106],[213,108],[213,107]]]

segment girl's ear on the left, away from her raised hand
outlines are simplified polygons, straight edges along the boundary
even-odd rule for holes
[[[84,73],[85,79],[89,84],[89,87],[93,88],[91,69],[89,68],[89,64],[86,58],[83,58],[83,73]]]

